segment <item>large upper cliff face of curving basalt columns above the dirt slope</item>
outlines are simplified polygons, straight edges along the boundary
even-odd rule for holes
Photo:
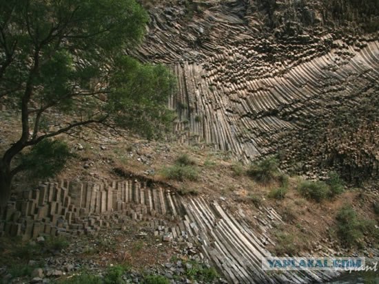
[[[181,140],[244,162],[280,154],[296,172],[377,177],[378,32],[341,26],[322,5],[184,1],[150,10],[134,55],[178,76],[170,107]]]

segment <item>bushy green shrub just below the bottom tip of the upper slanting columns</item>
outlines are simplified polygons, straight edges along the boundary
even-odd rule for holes
[[[267,157],[265,160],[253,163],[247,170],[247,175],[257,182],[267,184],[278,175],[278,160],[275,157]]]

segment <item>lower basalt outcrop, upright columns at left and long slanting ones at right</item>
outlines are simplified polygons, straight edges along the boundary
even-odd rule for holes
[[[311,283],[337,273],[262,270],[265,248],[274,245],[272,229],[283,223],[274,208],[259,206],[254,229],[242,210],[230,212],[226,200],[180,197],[174,191],[147,186],[139,179],[101,184],[59,182],[19,193],[0,219],[0,233],[36,239],[45,235],[91,234],[125,219],[150,223],[163,241],[191,243],[212,261],[229,283]],[[325,250],[318,254],[328,256]]]

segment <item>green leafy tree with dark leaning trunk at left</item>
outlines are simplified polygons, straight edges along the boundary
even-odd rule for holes
[[[14,157],[28,147],[87,124],[150,137],[167,127],[174,76],[125,55],[147,21],[135,0],[0,0],[0,102],[19,110],[22,125],[0,160],[0,208],[25,169]],[[51,113],[61,113],[59,127]]]

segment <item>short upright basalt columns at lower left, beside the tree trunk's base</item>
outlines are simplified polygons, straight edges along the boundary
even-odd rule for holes
[[[23,239],[40,234],[80,235],[110,226],[112,212],[136,220],[156,215],[175,218],[181,206],[173,194],[138,179],[110,184],[41,184],[38,189],[20,192],[16,201],[8,203],[0,231]]]

